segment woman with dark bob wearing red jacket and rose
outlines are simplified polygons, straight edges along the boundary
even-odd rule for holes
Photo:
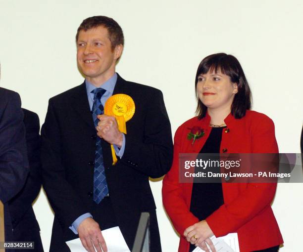
[[[278,153],[274,124],[250,110],[250,87],[234,56],[204,58],[195,87],[198,116],[177,129],[162,188],[164,207],[181,236],[179,252],[208,251],[206,244],[214,251],[211,236],[235,232],[241,252],[277,252],[283,239],[270,205],[276,183],[179,182],[179,153]],[[200,135],[194,144],[191,131]]]

